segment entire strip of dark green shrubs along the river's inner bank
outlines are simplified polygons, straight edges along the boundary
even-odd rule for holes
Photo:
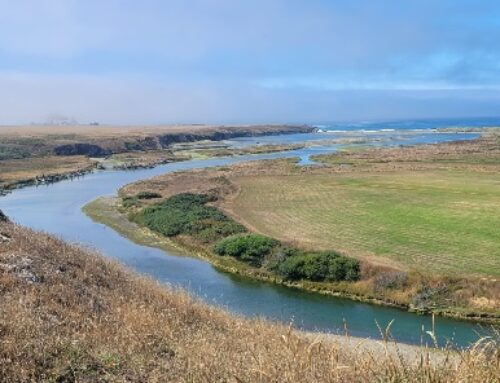
[[[131,198],[125,199],[130,201]],[[140,207],[138,197],[132,197]],[[215,197],[182,193],[130,215],[139,225],[166,237],[189,236],[206,250],[261,268],[285,280],[356,281],[359,261],[333,251],[302,251],[246,228],[207,205]]]

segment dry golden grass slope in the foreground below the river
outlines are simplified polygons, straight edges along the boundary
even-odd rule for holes
[[[435,354],[232,317],[1,223],[0,381],[495,382],[496,345]]]

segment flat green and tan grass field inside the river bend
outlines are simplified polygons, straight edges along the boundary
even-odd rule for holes
[[[228,210],[272,237],[426,272],[500,275],[498,173],[305,173],[236,182],[241,192]]]

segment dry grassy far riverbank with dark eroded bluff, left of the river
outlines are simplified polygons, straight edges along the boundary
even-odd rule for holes
[[[314,130],[289,125],[4,126],[0,131],[0,190],[78,176],[100,168],[104,158],[108,158],[108,164],[116,163],[118,169],[139,169],[196,155],[195,151],[173,153],[172,147],[181,143]],[[213,154],[220,155],[216,151]]]

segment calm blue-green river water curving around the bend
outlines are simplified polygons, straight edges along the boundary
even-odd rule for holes
[[[278,137],[290,143],[308,139],[309,135],[292,136]],[[460,138],[457,135],[452,137]],[[433,135],[434,140],[444,138]],[[471,136],[464,135],[461,138]],[[276,139],[259,137],[254,138],[253,142],[278,142]],[[127,183],[165,172],[293,156],[307,162],[312,153],[324,153],[336,148],[330,146],[269,155],[187,161],[136,171],[95,172],[72,181],[16,190],[0,198],[0,209],[22,225],[84,244],[140,273],[183,287],[205,301],[235,313],[249,317],[262,316],[285,323],[293,321],[295,326],[303,329],[332,333],[342,333],[345,321],[352,335],[374,338],[379,337],[376,323],[385,327],[394,320],[392,333],[397,340],[410,343],[423,340],[430,343],[430,337],[424,331],[431,329],[431,318],[428,316],[301,292],[222,273],[198,259],[137,245],[105,225],[93,222],[81,211],[82,206],[99,196],[114,195]],[[436,318],[436,333],[441,341],[449,339],[459,346],[465,346],[477,339],[477,331],[484,332],[484,329],[468,322]]]

